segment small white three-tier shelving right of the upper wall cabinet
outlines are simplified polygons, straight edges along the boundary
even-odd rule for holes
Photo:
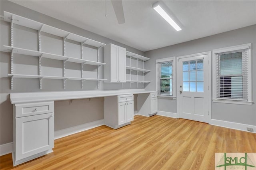
[[[142,83],[142,86],[144,87],[145,83],[150,83],[150,81],[144,81],[144,73],[149,72],[150,70],[144,69],[144,62],[150,60],[148,57],[144,57],[142,55],[138,55],[136,53],[132,53],[129,51],[126,51],[126,56],[130,59],[130,66],[126,65],[126,69],[130,70],[130,80],[126,80],[126,82],[130,82],[130,87],[132,87],[132,83],[136,83],[138,87],[138,83]],[[131,60],[132,58],[136,59],[136,67],[131,66]],[[138,60],[142,60],[142,68],[138,67]],[[132,80],[132,71],[136,71],[136,80]],[[142,81],[138,80],[138,72],[142,72]]]

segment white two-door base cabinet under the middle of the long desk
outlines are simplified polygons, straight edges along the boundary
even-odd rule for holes
[[[104,98],[104,122],[111,128],[129,125],[134,120],[133,95],[110,96]]]

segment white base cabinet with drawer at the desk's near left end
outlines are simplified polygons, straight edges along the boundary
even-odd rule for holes
[[[14,105],[14,166],[52,152],[53,111],[53,102]]]

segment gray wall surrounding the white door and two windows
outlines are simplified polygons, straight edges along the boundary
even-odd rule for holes
[[[252,43],[252,101],[256,100],[256,25],[240,28],[237,30],[216,34],[185,43],[171,45],[152,51],[147,51],[145,55],[150,57],[148,65],[151,72],[146,75],[146,79],[151,79],[147,90],[156,89],[156,59],[189,55],[213,49]],[[178,94],[178,93],[177,93]],[[159,99],[158,110],[177,113],[177,102],[172,99]],[[256,105],[234,105],[212,102],[212,119],[256,125]]]

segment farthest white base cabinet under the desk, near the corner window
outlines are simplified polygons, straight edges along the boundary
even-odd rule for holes
[[[137,109],[138,115],[146,117],[155,115],[158,110],[157,93],[138,94]]]

